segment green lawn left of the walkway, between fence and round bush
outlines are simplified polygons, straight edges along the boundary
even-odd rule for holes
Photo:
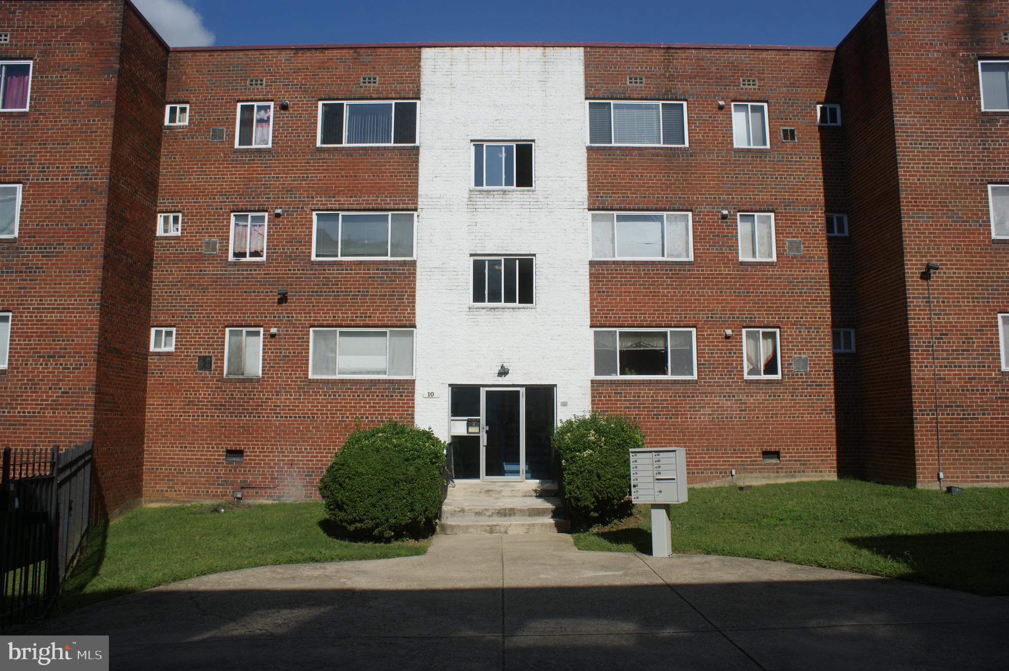
[[[173,506],[130,511],[91,530],[64,585],[64,612],[198,575],[252,566],[406,557],[427,542],[356,543],[328,535],[321,502]]]

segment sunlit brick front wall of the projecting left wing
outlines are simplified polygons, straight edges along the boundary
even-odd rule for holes
[[[0,444],[92,437],[120,2],[0,3],[33,62],[27,112],[0,112],[0,182],[21,183],[18,238],[0,240],[0,311],[13,313],[0,371]]]

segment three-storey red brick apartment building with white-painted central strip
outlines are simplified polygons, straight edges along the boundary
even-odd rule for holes
[[[836,48],[170,48],[7,0],[0,444],[93,439],[109,513],[315,496],[387,419],[547,478],[591,410],[694,484],[1005,484],[1007,165],[995,0]]]

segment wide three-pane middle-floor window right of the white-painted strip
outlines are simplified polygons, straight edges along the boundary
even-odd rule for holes
[[[592,213],[592,258],[693,258],[691,214]]]

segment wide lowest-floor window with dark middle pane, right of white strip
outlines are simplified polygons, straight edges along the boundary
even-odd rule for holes
[[[694,329],[594,331],[595,375],[695,379],[696,335]]]

